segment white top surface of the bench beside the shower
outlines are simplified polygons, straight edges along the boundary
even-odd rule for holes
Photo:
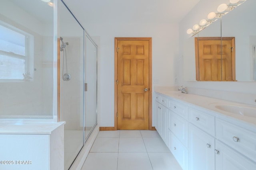
[[[0,134],[51,134],[65,122],[50,122],[43,119],[0,119]]]

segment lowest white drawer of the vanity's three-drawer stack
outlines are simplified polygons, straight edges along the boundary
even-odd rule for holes
[[[188,170],[188,149],[168,130],[169,149],[183,170]]]

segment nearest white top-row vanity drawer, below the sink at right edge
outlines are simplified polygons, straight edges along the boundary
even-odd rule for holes
[[[256,133],[216,118],[216,138],[256,161]]]

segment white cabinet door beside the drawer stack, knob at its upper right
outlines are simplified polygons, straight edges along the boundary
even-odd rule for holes
[[[215,170],[214,137],[188,124],[189,170]]]

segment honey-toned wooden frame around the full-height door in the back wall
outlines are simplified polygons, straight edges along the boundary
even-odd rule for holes
[[[115,109],[114,109],[114,130],[117,130],[117,43],[118,41],[148,41],[149,51],[148,51],[148,71],[149,71],[149,101],[148,101],[148,127],[149,130],[152,130],[152,37],[115,37]]]

